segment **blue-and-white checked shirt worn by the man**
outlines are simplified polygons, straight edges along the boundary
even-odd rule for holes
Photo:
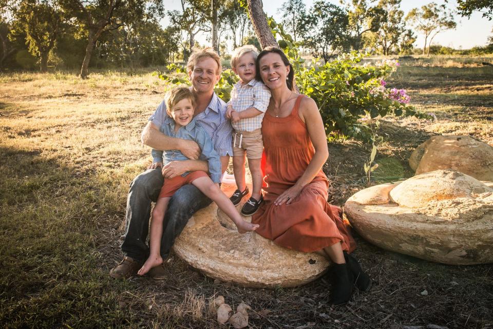
[[[166,122],[166,118],[169,118],[169,115],[166,112],[166,104],[162,101],[154,114],[149,117],[149,121],[161,127]],[[211,103],[207,108],[195,115],[194,119],[200,123],[200,126],[211,137],[214,149],[219,154],[219,157],[233,156],[231,142],[233,128],[230,121],[226,119],[226,103],[216,93],[212,95]]]

